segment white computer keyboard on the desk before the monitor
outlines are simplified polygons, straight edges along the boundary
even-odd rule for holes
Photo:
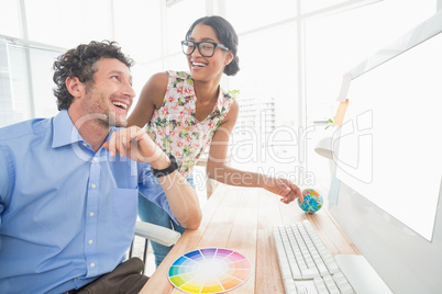
[[[309,220],[273,230],[286,294],[355,293]]]

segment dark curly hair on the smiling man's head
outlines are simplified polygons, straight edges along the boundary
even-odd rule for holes
[[[117,42],[92,41],[89,44],[81,44],[74,49],[58,56],[54,69],[54,94],[57,98],[58,110],[67,110],[73,103],[74,97],[66,88],[68,77],[77,77],[86,86],[93,82],[93,74],[98,70],[97,61],[101,58],[114,58],[131,68],[134,61],[121,52]]]

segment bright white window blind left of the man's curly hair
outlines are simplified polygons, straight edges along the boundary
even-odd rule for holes
[[[52,65],[60,54],[0,38],[0,127],[57,113]]]

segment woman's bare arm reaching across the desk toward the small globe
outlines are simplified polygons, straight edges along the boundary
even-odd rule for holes
[[[237,186],[263,188],[281,196],[281,202],[290,203],[302,193],[297,185],[286,179],[275,179],[251,171],[233,169],[225,165],[229,137],[236,123],[239,113],[237,102],[234,101],[229,114],[213,134],[207,162],[207,174],[210,179]]]

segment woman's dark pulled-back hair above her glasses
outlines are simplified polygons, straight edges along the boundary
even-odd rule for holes
[[[199,23],[211,26],[216,32],[217,37],[220,39],[220,42],[232,50],[233,60],[228,66],[225,66],[224,74],[228,76],[236,75],[236,72],[240,71],[240,59],[236,56],[239,42],[236,32],[233,29],[233,26],[221,16],[218,15],[203,16],[201,19],[196,20],[192,23],[189,31],[187,31],[186,33],[186,39],[190,38],[190,35],[194,32],[195,26],[197,26],[197,24]]]

